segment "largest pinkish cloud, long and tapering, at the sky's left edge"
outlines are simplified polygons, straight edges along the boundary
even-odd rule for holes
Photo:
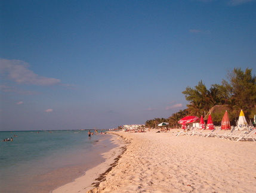
[[[59,79],[39,76],[29,70],[29,64],[20,60],[0,59],[0,73],[20,84],[48,86],[61,82]]]

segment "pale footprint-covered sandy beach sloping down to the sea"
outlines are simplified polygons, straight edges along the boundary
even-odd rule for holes
[[[176,131],[116,132],[129,144],[53,192],[256,192],[255,142],[175,137]],[[98,180],[95,171],[103,174]],[[93,188],[89,181],[101,182]]]

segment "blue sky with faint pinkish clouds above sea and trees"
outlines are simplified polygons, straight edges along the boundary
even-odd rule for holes
[[[256,74],[255,0],[0,0],[0,130],[110,129]]]

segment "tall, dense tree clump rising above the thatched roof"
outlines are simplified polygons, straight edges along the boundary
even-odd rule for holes
[[[251,74],[252,69],[244,72],[235,68],[228,73],[228,79],[222,81],[222,85],[211,85],[209,90],[202,80],[195,88],[187,87],[182,93],[190,104],[187,105],[190,115],[200,116],[203,111],[209,111],[217,104],[228,104],[234,110],[246,109],[248,114],[256,105],[255,76]]]

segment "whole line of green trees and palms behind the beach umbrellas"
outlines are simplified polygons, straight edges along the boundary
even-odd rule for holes
[[[198,85],[194,88],[188,86],[182,94],[189,102],[185,110],[173,113],[167,119],[147,120],[146,127],[156,127],[161,122],[168,122],[171,127],[177,128],[180,126],[178,121],[185,116],[201,117],[209,113],[212,113],[214,124],[220,125],[225,110],[228,110],[230,123],[235,125],[240,110],[243,110],[247,119],[253,119],[256,114],[256,77],[252,76],[252,69],[246,68],[243,71],[235,68],[228,71],[227,80],[223,79],[220,85],[211,85],[209,89],[200,80]],[[209,112],[214,109],[212,107],[218,107],[218,110]]]

